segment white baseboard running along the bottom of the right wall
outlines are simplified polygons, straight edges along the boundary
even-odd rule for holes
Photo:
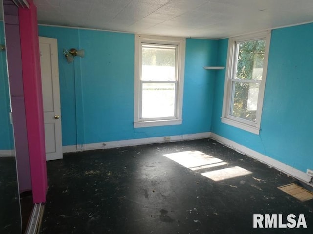
[[[263,155],[257,151],[251,150],[251,149],[247,148],[246,146],[240,145],[240,144],[238,144],[232,140],[221,137],[215,133],[211,133],[210,135],[211,135],[212,139],[224,144],[225,146],[227,146],[231,149],[238,151],[239,153],[250,156],[250,157],[252,157],[252,158],[254,158],[254,159],[256,159],[262,163],[265,163],[271,167],[276,168],[277,170],[279,170],[279,171],[281,171],[287,175],[293,176],[293,177],[295,177],[301,181],[304,181],[308,185],[311,185],[311,184],[309,184],[311,176],[307,175],[305,172],[302,172],[298,169],[295,169],[295,168],[293,168],[293,167],[291,167],[285,163],[282,163],[276,159],[273,159],[269,156],[265,156],[265,155]]]

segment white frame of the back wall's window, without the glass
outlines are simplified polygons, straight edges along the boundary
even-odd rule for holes
[[[175,72],[176,81],[142,81],[142,44],[169,45],[176,47]],[[184,38],[135,35],[134,51],[134,128],[179,125],[182,124],[182,98],[184,85],[184,65],[185,65]],[[176,100],[174,117],[141,118],[142,104],[142,84],[143,83],[175,83]]]

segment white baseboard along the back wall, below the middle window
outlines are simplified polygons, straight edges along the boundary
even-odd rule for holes
[[[183,134],[183,135],[176,135],[176,136],[150,137],[150,138],[131,139],[131,140],[100,142],[100,143],[92,143],[92,144],[77,145],[77,146],[68,145],[68,146],[63,146],[62,150],[63,150],[63,153],[70,153],[70,152],[79,152],[79,151],[85,151],[85,150],[111,149],[111,148],[124,147],[124,146],[145,145],[145,144],[174,142],[174,141],[182,141],[182,140],[196,140],[196,139],[208,138],[210,136],[211,136],[211,132]],[[171,137],[171,139],[165,140],[165,137]]]

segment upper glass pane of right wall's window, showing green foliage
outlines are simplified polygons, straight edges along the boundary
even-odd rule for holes
[[[265,40],[237,43],[236,79],[262,80]]]

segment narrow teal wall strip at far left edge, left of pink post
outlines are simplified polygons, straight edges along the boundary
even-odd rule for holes
[[[0,44],[5,44],[3,21],[0,21]],[[13,149],[12,125],[10,123],[10,94],[5,52],[0,52],[0,150]]]

